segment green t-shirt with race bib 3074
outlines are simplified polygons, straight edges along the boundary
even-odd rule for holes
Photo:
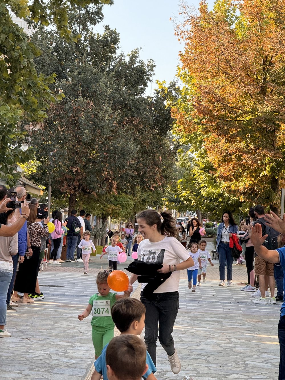
[[[89,304],[92,305],[92,320],[91,325],[96,327],[105,327],[114,329],[115,324],[111,317],[111,309],[116,302],[116,293],[109,293],[108,296],[100,296],[94,294],[89,299]]]

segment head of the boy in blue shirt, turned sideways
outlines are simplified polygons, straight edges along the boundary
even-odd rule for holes
[[[146,308],[136,298],[122,298],[112,307],[111,315],[121,334],[140,335],[144,328]]]

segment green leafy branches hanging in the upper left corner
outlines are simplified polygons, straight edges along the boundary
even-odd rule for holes
[[[72,3],[84,6],[109,1],[77,0]],[[67,28],[68,4],[68,1],[62,3],[58,0],[49,3],[9,0],[0,4],[0,177],[9,185],[13,185],[20,176],[15,172],[17,163],[25,163],[33,157],[31,147],[22,147],[25,131],[18,127],[19,123],[23,117],[27,122],[41,122],[49,105],[61,99],[60,94],[54,95],[49,88],[54,74],[37,74],[33,59],[40,55],[40,51],[23,29],[12,21],[12,14],[44,25],[52,20],[61,35],[71,41],[76,36]]]

